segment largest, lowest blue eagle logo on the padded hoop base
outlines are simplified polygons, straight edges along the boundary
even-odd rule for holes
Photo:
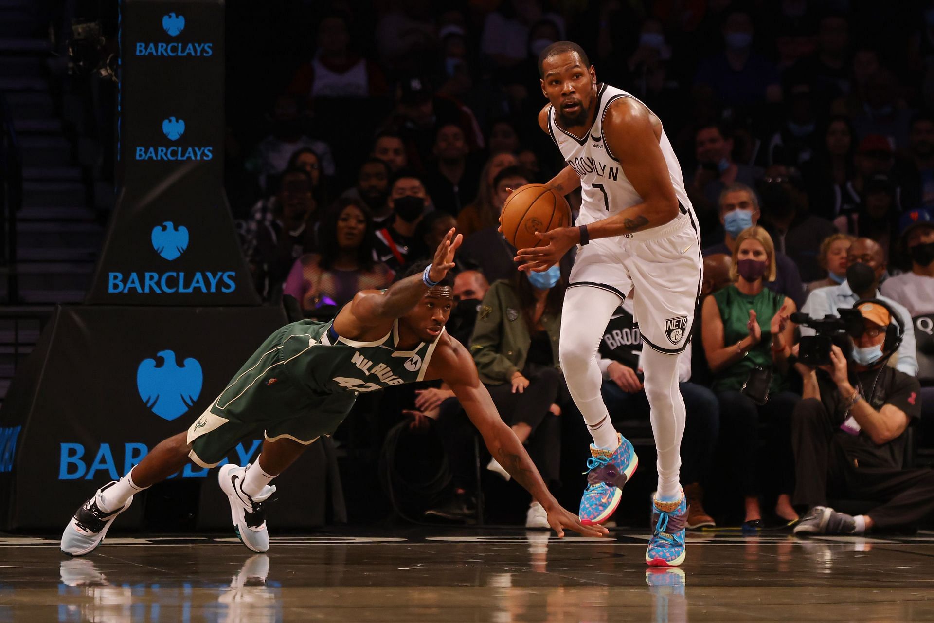
[[[191,357],[181,367],[176,363],[173,350],[161,350],[156,357],[162,358],[162,366],[157,366],[152,359],[140,362],[136,369],[136,389],[152,413],[172,421],[184,415],[198,400],[204,376],[201,364]]]

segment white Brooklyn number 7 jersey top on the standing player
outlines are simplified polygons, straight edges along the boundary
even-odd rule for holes
[[[577,138],[562,130],[555,120],[554,106],[548,110],[548,132],[558,145],[564,162],[570,164],[581,178],[584,201],[576,220],[578,225],[587,225],[605,219],[630,205],[642,203],[642,197],[632,188],[630,180],[623,172],[623,167],[603,140],[603,118],[606,116],[606,109],[621,97],[632,97],[637,102],[639,101],[622,89],[616,89],[605,83],[597,86],[597,115],[594,117],[590,132],[584,138]],[[668,175],[672,179],[674,194],[677,195],[678,201],[685,210],[691,210],[691,202],[685,191],[685,181],[681,176],[681,165],[678,164],[678,157],[674,155],[672,143],[668,140],[664,130],[662,130],[658,147],[661,148],[665,163],[668,164]]]

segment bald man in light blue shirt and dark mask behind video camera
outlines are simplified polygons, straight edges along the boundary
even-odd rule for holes
[[[838,307],[850,307],[861,299],[878,299],[898,314],[905,325],[901,346],[896,354],[895,367],[906,375],[918,375],[918,359],[915,353],[914,328],[908,310],[892,299],[879,294],[879,281],[885,274],[887,263],[882,247],[869,238],[856,238],[846,252],[846,281],[839,286],[818,288],[811,292],[801,307],[801,312],[819,319],[827,315],[837,316]],[[801,335],[814,335],[814,329],[801,327]]]

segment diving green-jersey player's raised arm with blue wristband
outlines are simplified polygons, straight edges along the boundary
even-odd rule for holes
[[[441,281],[447,275],[447,271],[454,268],[454,253],[463,241],[463,236],[460,234],[454,237],[455,231],[451,229],[445,234],[444,240],[434,252],[432,266],[428,271],[428,278],[432,282]],[[413,275],[395,282],[386,291],[362,290],[349,305],[351,318],[341,319],[341,324],[356,325],[348,327],[352,333],[356,328],[401,318],[421,300],[428,288],[422,275]],[[341,327],[335,327],[335,329],[338,333],[341,332]]]

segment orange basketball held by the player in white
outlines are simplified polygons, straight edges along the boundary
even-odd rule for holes
[[[543,244],[536,232],[550,232],[571,224],[571,206],[545,184],[528,184],[514,191],[502,206],[502,234],[515,248]]]

